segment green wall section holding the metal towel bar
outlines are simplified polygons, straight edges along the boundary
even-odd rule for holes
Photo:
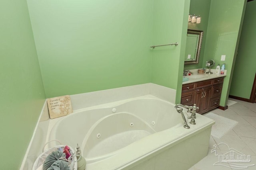
[[[179,45],[152,49],[152,83],[180,90],[186,47],[187,16],[190,1],[154,1],[153,45],[178,42]],[[175,14],[175,17],[173,16]]]

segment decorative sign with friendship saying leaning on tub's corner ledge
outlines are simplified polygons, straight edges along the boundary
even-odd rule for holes
[[[49,98],[47,104],[51,119],[73,113],[69,95]]]

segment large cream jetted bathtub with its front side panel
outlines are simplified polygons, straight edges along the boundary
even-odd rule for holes
[[[48,129],[47,140],[74,149],[79,144],[86,170],[182,170],[208,152],[214,121],[200,114],[195,120],[196,125],[188,123],[190,129],[185,129],[174,104],[146,95],[59,117]]]

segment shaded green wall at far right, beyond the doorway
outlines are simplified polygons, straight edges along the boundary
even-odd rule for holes
[[[230,95],[250,99],[256,72],[256,0],[247,2]]]

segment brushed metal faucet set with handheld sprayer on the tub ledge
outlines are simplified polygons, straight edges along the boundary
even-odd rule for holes
[[[182,105],[182,104],[176,104],[174,106],[176,108],[176,110],[178,111],[178,113],[182,114],[182,119],[184,120],[184,123],[185,123],[184,127],[189,129],[190,127],[188,126],[188,124],[186,122],[186,119],[185,119],[185,116],[182,112],[183,109],[180,108],[179,106],[184,107],[184,108],[189,109],[189,110],[192,109],[191,116],[188,117],[188,119],[191,119],[191,121],[189,123],[192,124],[192,125],[196,124],[196,121],[195,121],[195,119],[196,119],[196,109],[199,109],[199,107],[196,107],[196,104],[194,104],[193,106],[186,106],[186,105]]]

